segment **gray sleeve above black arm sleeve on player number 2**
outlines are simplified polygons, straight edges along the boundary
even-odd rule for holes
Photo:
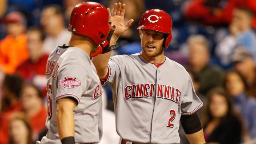
[[[180,105],[181,114],[191,115],[202,106],[203,106],[203,102],[196,95],[194,85],[192,83],[191,77],[189,76],[188,82],[185,85],[185,91],[184,91],[184,95],[182,97],[182,101]]]

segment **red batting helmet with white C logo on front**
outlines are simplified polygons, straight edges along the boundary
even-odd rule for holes
[[[150,9],[140,17],[139,27],[137,29],[149,29],[168,34],[165,39],[164,47],[172,40],[172,18],[168,13],[160,9]]]

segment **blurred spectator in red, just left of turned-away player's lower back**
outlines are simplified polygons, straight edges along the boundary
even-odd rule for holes
[[[33,140],[38,140],[44,130],[47,111],[43,104],[43,94],[34,84],[25,84],[21,91],[21,105],[30,120]]]

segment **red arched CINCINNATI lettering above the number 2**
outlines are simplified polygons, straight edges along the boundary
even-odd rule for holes
[[[154,89],[156,88],[156,92]],[[172,100],[176,104],[180,104],[181,92],[178,88],[164,84],[132,84],[127,85],[124,88],[124,98],[143,98],[143,97],[154,97],[156,94],[157,98]]]

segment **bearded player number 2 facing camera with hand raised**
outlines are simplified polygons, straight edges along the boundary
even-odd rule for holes
[[[121,4],[113,17],[123,16]],[[124,31],[115,22],[112,42]],[[164,56],[172,40],[172,19],[151,9],[139,22],[142,51],[133,55],[100,54],[92,59],[102,81],[113,91],[120,144],[177,144],[179,123],[192,144],[204,144],[196,111],[203,106],[184,67]],[[109,60],[110,58],[110,60]]]

